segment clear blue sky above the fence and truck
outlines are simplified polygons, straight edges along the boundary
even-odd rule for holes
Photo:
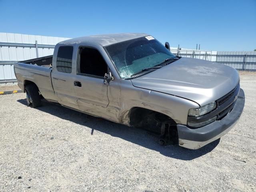
[[[78,37],[144,32],[170,46],[256,49],[256,0],[0,0],[0,32]]]

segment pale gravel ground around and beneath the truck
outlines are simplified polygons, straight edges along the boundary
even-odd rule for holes
[[[256,74],[241,74],[246,105],[221,140],[199,150],[49,104],[0,95],[0,191],[256,191]]]

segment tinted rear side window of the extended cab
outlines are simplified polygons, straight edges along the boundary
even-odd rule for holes
[[[72,71],[73,46],[60,46],[57,54],[57,70],[64,73]]]

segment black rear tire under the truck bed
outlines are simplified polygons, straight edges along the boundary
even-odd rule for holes
[[[28,84],[25,87],[28,106],[37,108],[42,106],[41,96],[35,84]]]

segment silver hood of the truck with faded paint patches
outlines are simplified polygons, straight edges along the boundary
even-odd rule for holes
[[[182,57],[131,81],[135,87],[186,98],[204,106],[234,89],[239,74],[224,64]]]

